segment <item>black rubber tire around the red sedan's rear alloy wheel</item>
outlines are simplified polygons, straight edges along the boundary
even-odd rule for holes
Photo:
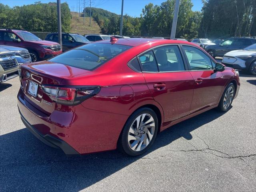
[[[152,116],[152,118],[154,119],[154,123],[155,123],[155,128],[154,128],[154,134],[152,139],[150,140],[150,142],[148,143],[148,145],[140,150],[140,151],[134,151],[132,150],[132,148],[130,147],[129,143],[128,143],[128,134],[129,134],[129,130],[130,127],[132,126],[133,122],[136,120],[137,117],[139,117],[142,114],[150,114]],[[146,150],[148,150],[150,148],[150,146],[152,146],[156,135],[158,132],[158,118],[156,113],[150,109],[150,108],[140,108],[138,110],[136,110],[127,120],[126,124],[124,125],[124,128],[120,134],[120,138],[118,140],[118,149],[128,155],[128,156],[138,156],[143,154],[144,152],[146,152]],[[145,132],[144,132],[145,133]],[[144,142],[142,142],[144,143]],[[138,144],[139,145],[139,144]]]

